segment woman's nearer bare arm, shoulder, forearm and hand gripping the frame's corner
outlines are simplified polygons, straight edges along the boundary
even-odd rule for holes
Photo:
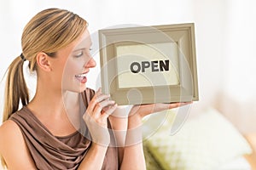
[[[84,122],[86,123],[93,140],[87,155],[79,165],[79,169],[101,169],[109,144],[107,119],[115,110],[116,105],[109,100],[108,95],[98,91],[91,100]],[[3,156],[8,169],[37,169],[20,127],[13,121],[4,122],[0,127],[0,155]]]

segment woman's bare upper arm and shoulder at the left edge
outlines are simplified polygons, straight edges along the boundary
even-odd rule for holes
[[[0,127],[0,155],[8,169],[37,169],[26,147],[20,127],[13,122],[4,122]]]

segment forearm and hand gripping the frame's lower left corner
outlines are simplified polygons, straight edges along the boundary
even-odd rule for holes
[[[117,105],[109,100],[109,95],[102,94],[101,89],[91,99],[83,119],[89,129],[92,144],[79,169],[102,169],[110,142],[107,120],[116,107]]]

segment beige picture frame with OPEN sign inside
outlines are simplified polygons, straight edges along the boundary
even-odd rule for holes
[[[99,31],[102,92],[119,105],[198,100],[193,23]]]

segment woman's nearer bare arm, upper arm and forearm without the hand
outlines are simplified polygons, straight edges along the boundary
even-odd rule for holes
[[[79,169],[101,169],[108,146],[93,143]],[[9,170],[37,169],[26,147],[20,127],[15,122],[4,122],[0,127],[0,155]]]

